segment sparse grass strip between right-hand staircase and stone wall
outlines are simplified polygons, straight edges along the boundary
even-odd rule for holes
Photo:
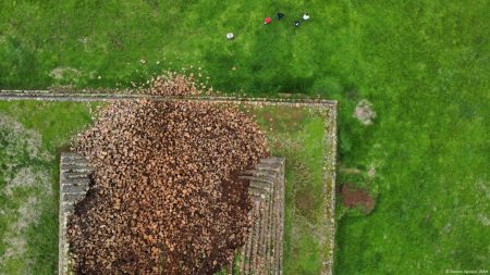
[[[284,274],[318,274],[328,250],[323,213],[323,117],[299,108],[254,110],[272,154],[286,159]],[[322,237],[323,236],[323,237]]]

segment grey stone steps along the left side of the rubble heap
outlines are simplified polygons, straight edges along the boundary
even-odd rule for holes
[[[66,226],[69,216],[74,212],[75,204],[85,198],[90,185],[93,172],[87,160],[77,153],[63,152],[60,160],[60,235],[59,235],[59,272],[71,274],[69,263],[69,242]]]

